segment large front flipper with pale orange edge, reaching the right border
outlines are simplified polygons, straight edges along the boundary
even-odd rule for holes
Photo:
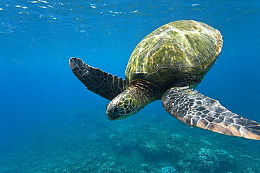
[[[187,125],[230,136],[260,140],[259,123],[228,111],[219,101],[185,88],[171,88],[162,96],[164,109]]]

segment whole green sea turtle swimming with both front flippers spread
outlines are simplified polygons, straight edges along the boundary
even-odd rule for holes
[[[125,80],[70,58],[70,68],[87,89],[111,100],[110,120],[129,117],[151,102],[183,123],[221,134],[260,140],[260,125],[228,111],[193,90],[222,48],[220,32],[193,20],[170,22],[145,36],[134,49]]]

